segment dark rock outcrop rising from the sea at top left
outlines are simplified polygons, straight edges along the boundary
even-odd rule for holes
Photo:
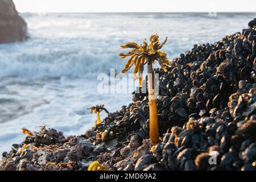
[[[22,41],[27,38],[27,24],[18,15],[12,0],[0,0],[0,43]]]

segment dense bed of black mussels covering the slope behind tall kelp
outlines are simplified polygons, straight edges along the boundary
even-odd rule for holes
[[[256,169],[256,19],[242,33],[195,45],[167,72],[155,73],[162,142],[119,170]],[[147,94],[134,93],[133,101],[95,129],[96,143],[127,140],[106,163],[117,162],[131,135],[141,143],[149,138]]]

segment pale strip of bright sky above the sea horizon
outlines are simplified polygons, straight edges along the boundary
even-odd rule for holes
[[[13,0],[31,12],[255,12],[255,0]]]

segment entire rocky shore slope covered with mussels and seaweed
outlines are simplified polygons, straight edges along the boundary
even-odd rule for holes
[[[4,152],[1,170],[256,169],[256,19],[214,44],[195,45],[159,73],[161,142],[148,136],[147,94],[79,137],[42,126]],[[45,159],[45,160],[44,160]]]

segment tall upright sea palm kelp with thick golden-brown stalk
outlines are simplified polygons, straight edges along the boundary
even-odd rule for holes
[[[121,48],[132,48],[127,53],[119,53],[119,56],[122,56],[121,59],[129,57],[126,61],[125,69],[121,73],[127,72],[134,65],[134,80],[139,78],[139,85],[142,85],[143,80],[143,71],[144,64],[147,64],[147,73],[148,73],[148,104],[150,107],[150,139],[153,145],[159,142],[158,137],[158,108],[156,105],[155,89],[154,89],[154,72],[152,64],[155,63],[155,60],[158,61],[160,67],[166,71],[166,65],[170,66],[171,63],[167,58],[166,53],[160,51],[160,49],[167,42],[167,37],[164,39],[163,43],[159,43],[158,34],[153,34],[150,36],[150,44],[147,44],[147,41],[139,46],[137,43],[126,43]]]

